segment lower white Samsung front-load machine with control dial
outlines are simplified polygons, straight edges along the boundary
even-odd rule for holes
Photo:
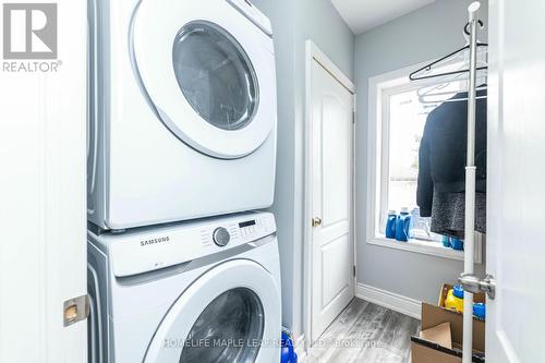
[[[275,219],[88,233],[89,362],[277,363]]]

